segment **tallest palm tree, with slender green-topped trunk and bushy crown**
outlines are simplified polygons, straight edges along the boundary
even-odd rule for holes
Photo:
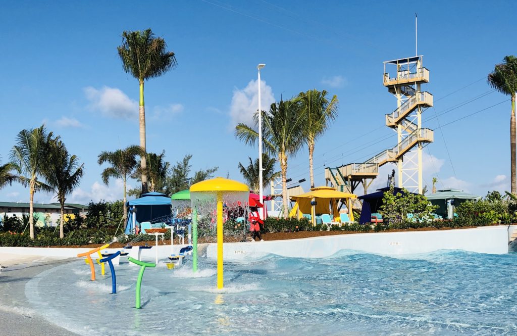
[[[151,29],[145,31],[124,31],[122,45],[117,47],[118,56],[122,61],[124,71],[138,79],[140,83],[140,147],[143,149],[141,158],[142,193],[147,192],[146,145],[145,145],[145,104],[144,81],[149,78],[160,77],[177,65],[172,51],[166,51],[167,44],[161,37],[155,37]]]

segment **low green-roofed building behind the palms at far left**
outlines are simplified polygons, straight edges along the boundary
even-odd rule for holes
[[[37,226],[55,226],[61,217],[61,207],[59,203],[34,203],[34,213],[38,216]],[[77,215],[86,215],[88,206],[78,203],[65,203],[65,216],[73,218]],[[13,215],[21,218],[22,214],[29,213],[29,203],[22,202],[0,202],[0,216]],[[1,220],[1,218],[0,218]]]

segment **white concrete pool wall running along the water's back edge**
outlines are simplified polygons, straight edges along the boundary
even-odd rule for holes
[[[508,240],[517,225],[476,227],[437,231],[351,233],[348,235],[322,236],[312,238],[272,240],[265,242],[224,243],[224,258],[239,260],[257,258],[267,254],[284,257],[323,258],[341,250],[356,250],[382,255],[405,255],[428,253],[437,250],[464,250],[477,253],[508,253]],[[267,239],[267,235],[266,235]],[[181,245],[174,246],[177,253]],[[34,255],[65,259],[76,257],[89,248],[67,247],[7,247],[0,246],[0,254]],[[110,252],[119,249],[106,249]],[[171,253],[170,245],[158,246],[159,258]],[[200,244],[200,254],[215,258],[215,243]],[[152,260],[155,248],[143,250],[142,257]]]

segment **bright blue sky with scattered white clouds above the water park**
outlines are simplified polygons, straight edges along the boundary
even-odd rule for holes
[[[396,136],[383,140],[394,135],[384,126],[384,114],[396,108],[396,99],[383,86],[382,62],[414,55],[415,12],[418,53],[431,71],[424,90],[435,101],[423,114],[424,126],[436,129],[435,142],[424,150],[425,183],[436,176],[438,188],[482,195],[509,189],[510,103],[445,124],[507,99],[492,92],[485,77],[515,53],[514,2],[17,1],[0,6],[2,162],[21,129],[45,123],[86,166],[70,201],[118,198],[120,183],[101,183],[97,155],[139,143],[138,81],[123,71],[116,53],[122,31],[151,27],[178,61],[175,70],[146,83],[148,151],[165,150],[171,163],[190,153],[193,169],[218,166],[219,176],[228,172],[241,180],[237,165],[256,157],[256,148],[236,140],[232,129],[256,109],[256,65],[266,63],[264,103],[313,88],[340,99],[339,118],[316,144],[316,184],[324,184],[324,166],[362,162],[396,144]],[[304,150],[290,159],[288,177],[309,180],[307,155]],[[384,185],[392,168],[384,166],[374,186]],[[15,184],[0,191],[0,200],[27,201],[28,191]]]

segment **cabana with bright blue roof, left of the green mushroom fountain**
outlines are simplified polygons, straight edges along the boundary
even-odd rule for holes
[[[133,216],[135,216],[135,223],[153,222],[153,220],[157,219],[160,222],[166,222],[172,214],[171,198],[161,193],[152,192],[144,194],[140,198],[128,201],[126,205],[130,209],[133,207],[136,209],[136,213],[129,212],[126,235],[134,231]]]

